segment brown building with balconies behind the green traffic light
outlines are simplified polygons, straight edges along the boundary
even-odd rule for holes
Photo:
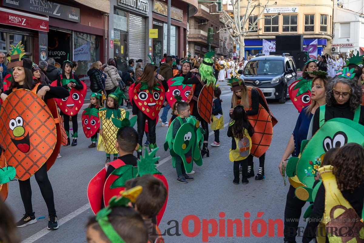
[[[197,13],[189,19],[188,32],[188,51],[193,55],[203,57],[203,54],[208,52],[209,45],[207,44],[207,31],[210,27],[213,28],[214,36],[211,43],[211,49],[219,48],[219,28],[220,20],[216,13],[216,5],[210,3],[198,4]]]

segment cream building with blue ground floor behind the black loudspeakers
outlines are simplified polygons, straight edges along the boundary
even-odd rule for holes
[[[254,4],[266,4],[266,0],[258,0]],[[318,53],[327,52],[331,46],[333,29],[333,8],[336,1],[332,0],[277,0],[277,5],[266,8],[262,18],[254,27],[258,30],[245,36],[245,56],[262,52],[262,39],[275,43],[277,35],[303,35],[304,46],[318,39]],[[225,11],[232,11],[230,0],[223,2]],[[240,1],[240,15],[246,12],[246,1]],[[252,8],[250,8],[252,9]],[[252,26],[262,8],[256,8],[249,17],[246,28]],[[279,14],[278,14],[279,13]],[[241,48],[241,46],[240,46]]]

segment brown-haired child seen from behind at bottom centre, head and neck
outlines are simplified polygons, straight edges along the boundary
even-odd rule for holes
[[[161,211],[167,198],[167,189],[163,182],[150,174],[136,177],[125,182],[125,189],[141,186],[142,192],[135,203],[132,204],[135,211],[142,216],[148,231],[150,242],[160,242],[163,240],[161,231],[155,221],[155,215]]]

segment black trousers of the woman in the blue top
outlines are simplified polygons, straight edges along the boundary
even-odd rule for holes
[[[302,201],[294,195],[296,190],[292,185],[289,186],[284,209],[284,240],[294,241],[297,235],[298,223],[300,221],[302,208],[305,201]]]

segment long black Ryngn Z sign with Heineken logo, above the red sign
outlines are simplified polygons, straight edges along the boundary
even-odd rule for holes
[[[80,23],[80,9],[49,0],[3,0],[3,5]]]

